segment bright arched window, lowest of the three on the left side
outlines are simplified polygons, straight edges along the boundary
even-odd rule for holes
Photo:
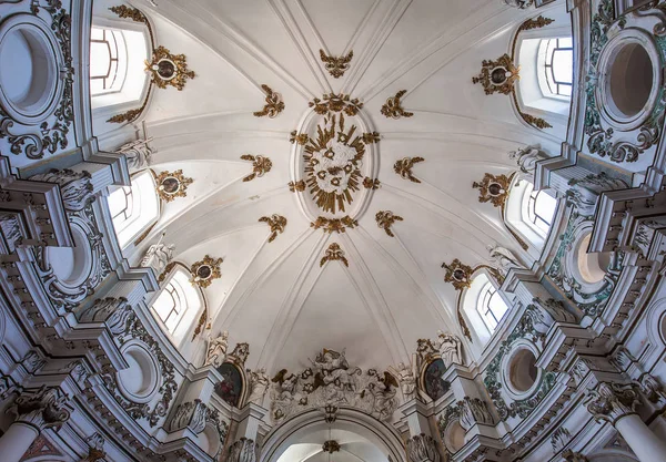
[[[185,338],[201,308],[198,289],[190,283],[190,275],[181,268],[172,274],[152,304],[155,319],[176,346]]]

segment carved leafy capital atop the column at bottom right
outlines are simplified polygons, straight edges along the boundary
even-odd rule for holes
[[[587,410],[596,420],[605,420],[615,425],[623,417],[636,413],[639,401],[635,388],[633,383],[601,382],[587,396]]]

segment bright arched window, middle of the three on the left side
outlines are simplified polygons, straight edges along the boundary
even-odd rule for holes
[[[139,237],[160,216],[160,201],[151,171],[135,175],[131,186],[118,187],[109,194],[107,202],[121,247]]]

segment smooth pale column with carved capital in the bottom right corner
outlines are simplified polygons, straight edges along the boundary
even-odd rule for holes
[[[615,427],[640,462],[666,462],[666,442],[635,412],[638,403],[633,384],[601,382],[589,392],[587,410],[595,419]]]

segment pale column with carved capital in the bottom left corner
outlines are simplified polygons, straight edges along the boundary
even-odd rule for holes
[[[9,410],[18,418],[0,438],[2,461],[19,462],[42,430],[59,428],[67,422],[73,410],[68,399],[59,387],[46,386],[17,398]]]

